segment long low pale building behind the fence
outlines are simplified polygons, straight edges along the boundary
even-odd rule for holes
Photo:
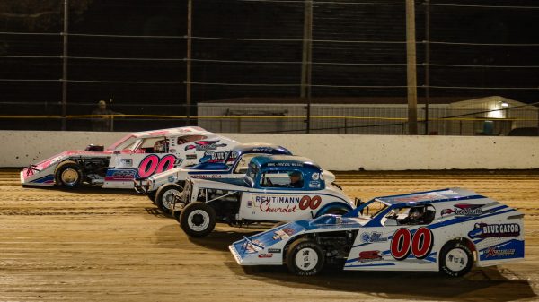
[[[419,108],[425,108],[419,99]],[[537,127],[538,108],[499,96],[429,99],[429,134],[507,135]],[[305,133],[301,98],[238,98],[199,102],[198,125],[221,133]],[[405,134],[405,98],[313,98],[312,134]],[[420,133],[425,110],[420,110]]]

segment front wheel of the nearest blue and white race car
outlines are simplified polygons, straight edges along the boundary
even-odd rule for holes
[[[313,276],[323,269],[323,249],[314,241],[299,239],[288,248],[286,262],[290,272]]]

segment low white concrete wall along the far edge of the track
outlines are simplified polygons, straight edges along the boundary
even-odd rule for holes
[[[109,145],[124,133],[0,131],[0,167],[23,167],[89,143]],[[273,142],[331,170],[539,168],[539,138],[338,134],[224,134],[239,142]]]

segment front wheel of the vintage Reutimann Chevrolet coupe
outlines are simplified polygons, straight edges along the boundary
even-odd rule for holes
[[[180,226],[190,237],[205,237],[216,227],[216,211],[206,203],[190,203],[181,211]]]

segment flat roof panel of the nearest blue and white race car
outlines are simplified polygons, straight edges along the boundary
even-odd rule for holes
[[[416,192],[411,194],[400,194],[376,197],[376,200],[389,205],[422,205],[427,203],[440,203],[451,201],[462,201],[467,199],[487,198],[481,194],[459,187],[446,188],[440,190]]]

